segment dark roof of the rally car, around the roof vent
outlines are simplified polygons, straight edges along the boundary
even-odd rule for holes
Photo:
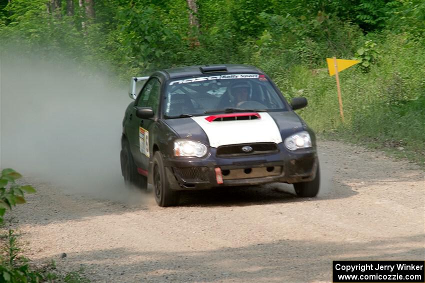
[[[264,74],[264,72],[254,66],[251,65],[242,65],[242,64],[219,64],[219,65],[196,65],[196,66],[188,66],[188,67],[178,67],[178,68],[170,68],[164,69],[169,78],[178,78],[185,76],[201,76],[201,75],[210,75],[214,73],[223,73],[223,71],[217,72],[202,72],[201,67],[218,67],[225,66],[227,68],[227,72],[225,73],[260,73]]]

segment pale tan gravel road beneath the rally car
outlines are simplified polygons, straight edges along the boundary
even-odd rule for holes
[[[124,186],[116,201],[26,178],[38,193],[14,226],[33,264],[83,267],[92,282],[330,282],[332,260],[424,260],[423,170],[340,142],[318,150],[314,199],[272,184],[160,208]]]

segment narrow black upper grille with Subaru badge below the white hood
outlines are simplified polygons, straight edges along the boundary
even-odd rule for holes
[[[245,146],[251,147],[252,150],[248,152],[243,151],[242,148]],[[243,156],[243,155],[253,155],[253,154],[268,154],[273,152],[278,152],[278,149],[277,149],[277,145],[272,142],[223,145],[217,148],[217,156],[220,156],[220,157]]]

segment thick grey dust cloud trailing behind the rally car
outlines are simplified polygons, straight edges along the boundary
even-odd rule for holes
[[[4,52],[0,72],[1,168],[70,193],[130,197],[119,163],[127,86],[72,63]]]

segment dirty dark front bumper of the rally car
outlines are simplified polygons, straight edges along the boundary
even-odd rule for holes
[[[164,159],[165,173],[173,190],[202,190],[273,182],[291,184],[315,178],[318,159],[314,147],[288,151],[280,143],[278,149],[278,152],[272,154],[219,158],[216,149],[210,148],[204,158]],[[223,175],[222,184],[217,183],[217,167]]]

